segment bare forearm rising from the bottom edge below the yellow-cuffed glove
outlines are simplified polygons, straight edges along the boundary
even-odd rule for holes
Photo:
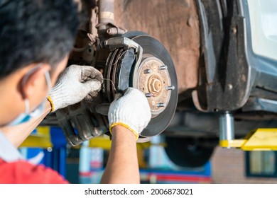
[[[121,126],[113,127],[112,148],[102,183],[139,183],[136,136]]]

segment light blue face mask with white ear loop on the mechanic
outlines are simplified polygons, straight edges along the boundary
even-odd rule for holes
[[[24,76],[23,81],[22,81],[22,86],[24,86],[24,84],[26,83],[26,80],[27,80],[28,76],[30,76],[30,74],[33,73],[39,67],[40,67],[40,65],[38,67],[36,67],[35,69],[31,70],[26,76]],[[45,79],[46,79],[46,83],[47,83],[47,86],[48,86],[48,92],[49,92],[50,89],[51,89],[51,78],[50,78],[50,74],[49,74],[48,71],[45,72]],[[15,126],[15,125],[18,125],[18,124],[22,124],[24,122],[28,122],[32,118],[38,118],[41,115],[43,115],[43,112],[44,112],[44,109],[45,109],[46,98],[32,112],[30,112],[30,104],[29,104],[28,98],[26,98],[24,100],[24,102],[25,102],[25,112],[18,115],[18,117],[16,117],[16,119],[9,122],[9,124],[6,124],[6,126]]]

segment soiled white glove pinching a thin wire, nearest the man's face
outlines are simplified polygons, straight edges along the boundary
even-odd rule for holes
[[[85,97],[96,96],[102,83],[101,72],[92,66],[71,65],[67,67],[49,92],[51,112],[79,103]]]

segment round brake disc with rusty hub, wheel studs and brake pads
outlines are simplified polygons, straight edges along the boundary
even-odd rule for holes
[[[151,107],[151,122],[141,137],[156,136],[170,123],[178,100],[177,76],[170,54],[155,38],[141,32],[123,35],[143,49],[141,62],[133,49],[116,49],[109,54],[104,72],[106,95],[109,103],[114,95],[128,87],[138,88],[148,98]],[[128,63],[128,64],[126,64]]]

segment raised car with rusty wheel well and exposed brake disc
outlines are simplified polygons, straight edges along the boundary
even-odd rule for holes
[[[58,120],[72,146],[109,135],[109,104],[116,93],[138,88],[152,114],[139,141],[161,134],[169,158],[183,167],[205,165],[227,132],[234,139],[276,128],[277,55],[255,51],[256,2],[80,2],[80,13],[86,14],[68,65],[99,69],[102,91],[93,101],[49,115],[43,124]],[[276,37],[272,40],[277,47]]]

